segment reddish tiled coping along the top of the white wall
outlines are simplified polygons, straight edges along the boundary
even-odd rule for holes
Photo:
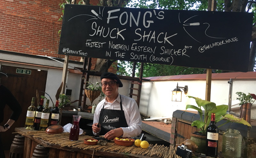
[[[213,73],[212,80],[214,79],[256,79],[256,72],[229,72],[229,73]],[[206,74],[192,74],[192,75],[172,75],[172,76],[156,76],[145,77],[151,81],[158,80],[206,80]]]

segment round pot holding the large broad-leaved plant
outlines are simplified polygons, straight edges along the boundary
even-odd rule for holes
[[[206,152],[206,136],[200,134],[200,132],[192,133],[190,138],[193,142],[196,143],[198,149],[196,150],[197,153],[204,153]]]

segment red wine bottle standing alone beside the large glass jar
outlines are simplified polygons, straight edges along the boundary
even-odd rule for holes
[[[215,114],[212,113],[211,123],[206,129],[206,156],[218,157],[219,129],[215,125]]]

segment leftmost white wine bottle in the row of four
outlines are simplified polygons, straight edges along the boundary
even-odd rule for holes
[[[32,130],[34,125],[34,119],[36,114],[36,107],[35,107],[35,100],[36,98],[32,98],[31,105],[28,107],[27,117],[25,122],[25,129]]]

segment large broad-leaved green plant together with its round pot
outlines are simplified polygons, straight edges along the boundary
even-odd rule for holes
[[[236,123],[242,123],[244,125],[250,126],[250,123],[245,121],[243,118],[238,118],[234,115],[227,114],[227,109],[228,105],[219,105],[216,106],[215,103],[207,101],[207,100],[202,100],[200,98],[188,96],[188,98],[193,98],[196,101],[197,107],[194,105],[187,105],[186,109],[192,108],[198,111],[200,115],[200,119],[193,121],[191,126],[196,126],[198,129],[201,131],[194,133],[194,135],[191,136],[191,140],[193,140],[196,145],[198,146],[197,152],[199,153],[204,153],[206,150],[206,129],[207,126],[211,122],[211,114],[215,113],[215,122],[219,122],[220,120],[226,119],[227,121],[220,126],[228,123],[228,122],[236,122]],[[204,111],[203,111],[203,109]],[[204,117],[203,117],[204,115]],[[220,127],[218,126],[218,127]],[[196,136],[195,134],[198,134],[200,136]]]

